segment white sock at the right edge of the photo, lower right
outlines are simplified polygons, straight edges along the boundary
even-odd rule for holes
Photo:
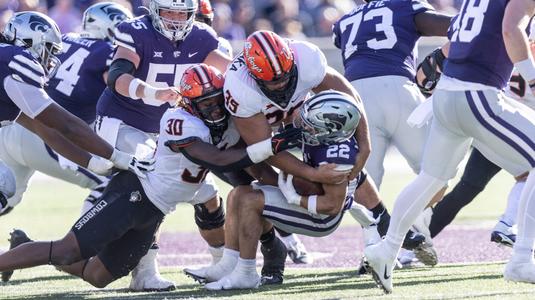
[[[535,242],[535,169],[529,172],[528,179],[520,195],[518,207],[518,234],[513,246],[516,261],[533,261],[533,244]]]

